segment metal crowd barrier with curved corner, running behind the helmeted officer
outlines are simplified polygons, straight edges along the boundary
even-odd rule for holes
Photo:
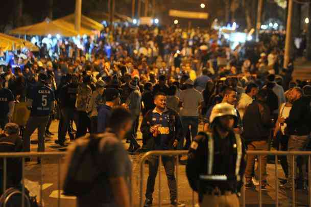
[[[181,150],[181,151],[150,151],[147,152],[145,155],[143,155],[140,159],[140,186],[139,186],[139,206],[142,207],[143,206],[143,192],[142,192],[142,188],[143,188],[143,182],[144,182],[144,174],[143,174],[143,168],[144,168],[144,164],[145,164],[145,160],[151,156],[151,155],[156,155],[159,156],[159,168],[158,168],[158,179],[159,179],[159,184],[158,184],[158,206],[161,206],[161,157],[162,156],[179,156],[179,155],[186,155],[188,151],[186,150]],[[308,202],[309,202],[309,206],[311,207],[311,151],[247,151],[247,154],[252,154],[252,155],[256,155],[258,157],[258,168],[259,168],[259,205],[258,206],[262,206],[262,196],[261,196],[261,156],[264,155],[274,155],[275,156],[275,205],[278,206],[279,202],[278,202],[278,169],[277,169],[277,165],[278,165],[278,156],[287,156],[287,155],[291,155],[292,156],[292,163],[294,163],[295,160],[295,156],[308,156],[308,160],[307,160],[307,169],[308,169]],[[178,165],[179,159],[176,159],[176,186],[178,187]],[[292,165],[292,169],[293,171],[293,178],[292,178],[292,205],[293,207],[295,207],[295,165]],[[242,206],[245,207],[245,187],[243,186],[242,188],[242,193],[243,193],[243,197],[242,197]],[[195,206],[195,198],[194,198],[194,192],[192,194],[192,206]],[[178,201],[178,188],[177,188],[177,201]]]

